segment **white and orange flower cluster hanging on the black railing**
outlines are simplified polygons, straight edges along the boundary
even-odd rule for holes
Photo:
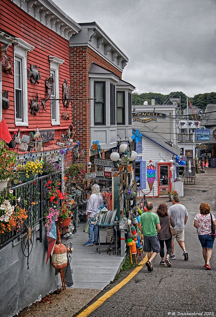
[[[20,198],[13,196],[13,191],[9,191],[9,198],[20,202]],[[12,206],[9,200],[0,197],[0,233],[6,234],[12,230],[22,229],[23,222],[28,218],[28,211],[17,206]]]

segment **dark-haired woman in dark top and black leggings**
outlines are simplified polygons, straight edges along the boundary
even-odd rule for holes
[[[158,238],[161,246],[160,256],[161,256],[161,265],[167,264],[167,266],[172,266],[170,263],[170,255],[171,255],[171,248],[172,248],[172,235],[170,231],[170,223],[169,223],[169,214],[168,208],[166,204],[160,204],[157,209],[157,214],[160,219],[161,230],[158,233]],[[174,227],[175,223],[173,217],[170,215],[171,225]],[[167,256],[164,260],[164,242],[167,247]]]

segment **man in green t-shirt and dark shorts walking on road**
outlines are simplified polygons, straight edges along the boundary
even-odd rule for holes
[[[152,212],[153,204],[147,203],[147,211],[143,212],[139,220],[139,229],[143,234],[144,252],[147,252],[146,266],[149,272],[153,271],[152,261],[160,252],[160,243],[157,231],[161,229],[159,216]]]

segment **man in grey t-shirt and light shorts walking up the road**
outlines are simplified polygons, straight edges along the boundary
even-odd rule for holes
[[[172,196],[172,204],[173,206],[171,206],[168,209],[168,213],[172,215],[174,223],[175,223],[175,226],[174,226],[175,235],[172,236],[172,250],[171,250],[172,254],[170,256],[170,259],[171,260],[175,259],[174,239],[176,239],[179,246],[183,250],[184,261],[187,261],[188,253],[185,250],[185,244],[184,244],[184,226],[187,222],[188,213],[186,208],[183,205],[179,204],[179,197],[177,195]]]

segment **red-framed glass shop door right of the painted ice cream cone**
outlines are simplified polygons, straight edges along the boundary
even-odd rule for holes
[[[171,188],[170,163],[158,163],[158,194],[168,196]]]

